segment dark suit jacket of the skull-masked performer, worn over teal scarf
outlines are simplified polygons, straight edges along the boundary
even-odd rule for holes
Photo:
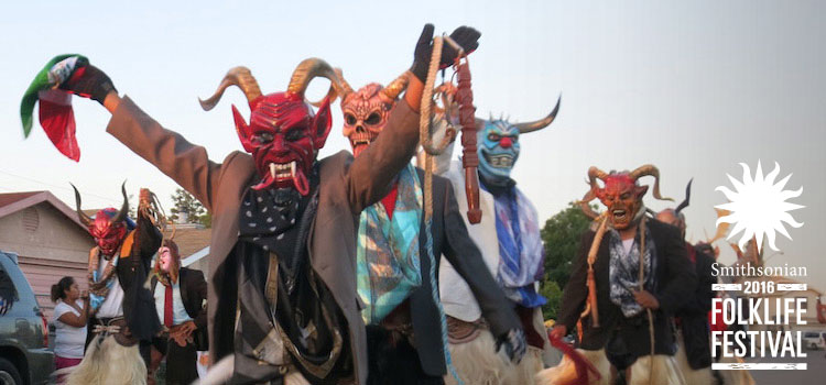
[[[424,180],[424,172],[416,168],[419,177]],[[456,271],[467,282],[474,292],[482,316],[490,326],[493,336],[501,336],[511,329],[519,329],[521,324],[504,293],[490,275],[488,266],[479,253],[476,243],[470,239],[461,219],[459,206],[454,196],[450,182],[433,176],[433,253],[436,258],[436,279],[438,279],[438,263],[444,254]],[[422,286],[410,297],[415,333],[416,350],[422,362],[422,369],[428,375],[444,375],[446,373],[445,355],[442,345],[441,321],[438,309],[433,302],[431,294],[431,262],[427,257],[427,234],[425,232],[424,216],[419,233],[419,245],[422,268]],[[437,283],[438,284],[438,283]],[[491,346],[490,349],[493,349]]]

